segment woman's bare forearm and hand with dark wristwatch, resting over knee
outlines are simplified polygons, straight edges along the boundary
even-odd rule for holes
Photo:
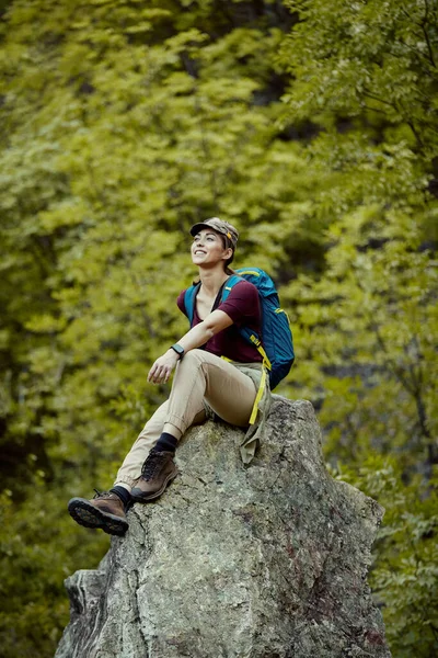
[[[210,338],[219,331],[227,329],[233,324],[229,315],[223,310],[214,310],[205,320],[192,327],[178,341],[178,345],[184,349],[184,352],[189,352],[195,348],[204,345]],[[157,359],[155,363],[149,371],[148,382],[153,384],[162,384],[169,381],[173,368],[178,361],[178,355],[174,350],[169,349],[162,356]]]

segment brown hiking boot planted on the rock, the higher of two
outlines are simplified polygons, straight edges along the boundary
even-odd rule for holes
[[[135,502],[147,502],[161,496],[166,486],[177,476],[172,452],[150,452],[141,468],[130,496]]]

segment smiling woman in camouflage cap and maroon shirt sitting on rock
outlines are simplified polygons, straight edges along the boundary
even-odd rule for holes
[[[199,269],[200,280],[192,329],[157,359],[148,374],[148,382],[162,384],[176,366],[171,395],[146,423],[114,487],[92,500],[70,500],[70,514],[87,527],[123,535],[128,529],[126,511],[130,504],[158,498],[177,475],[175,449],[192,424],[217,416],[247,428],[255,416],[257,421],[250,427],[241,449],[246,463],[254,454],[270,394],[262,376],[262,356],[241,337],[239,326],[261,334],[258,292],[242,279],[221,302],[239,238],[231,224],[212,217],[195,224],[191,234],[192,261]],[[186,313],[184,293],[177,305]],[[264,389],[257,396],[260,386]],[[256,397],[261,402],[253,413]]]

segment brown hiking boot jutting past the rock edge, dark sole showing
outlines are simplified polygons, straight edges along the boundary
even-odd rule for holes
[[[72,498],[68,503],[70,515],[85,527],[101,527],[107,534],[122,536],[128,530],[125,506],[116,494],[97,491],[92,500]]]

